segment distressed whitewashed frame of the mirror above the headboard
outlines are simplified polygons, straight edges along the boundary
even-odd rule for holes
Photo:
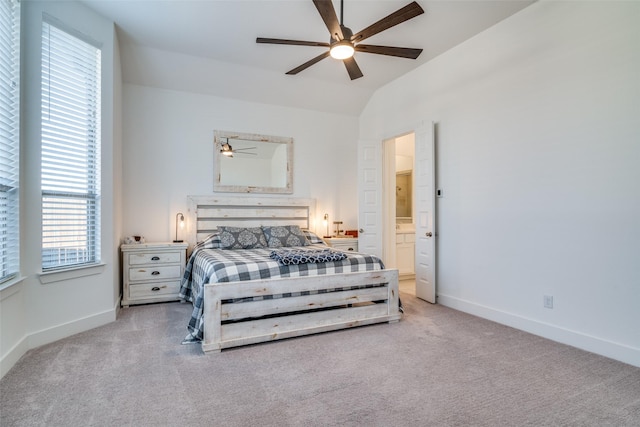
[[[213,159],[214,159],[214,178],[213,191],[225,193],[273,193],[273,194],[292,194],[293,193],[293,138],[272,135],[260,135],[250,133],[239,133],[216,130],[213,132]],[[287,147],[287,171],[286,185],[284,187],[263,187],[253,185],[230,185],[222,184],[220,174],[220,162],[224,157],[221,153],[222,144],[230,143],[233,146],[233,140],[255,141],[272,144],[286,144]],[[251,173],[251,171],[247,171]]]

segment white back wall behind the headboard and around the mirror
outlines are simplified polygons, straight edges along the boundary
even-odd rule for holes
[[[357,227],[353,117],[126,84],[121,237],[173,240],[187,196],[213,194],[214,130],[292,137],[292,196]]]

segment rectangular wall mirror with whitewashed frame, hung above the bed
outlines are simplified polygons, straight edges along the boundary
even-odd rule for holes
[[[213,191],[293,193],[293,138],[213,132]]]

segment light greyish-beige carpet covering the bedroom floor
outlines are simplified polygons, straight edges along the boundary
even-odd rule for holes
[[[2,426],[639,426],[640,368],[403,293],[403,319],[204,355],[190,306],[29,351]]]

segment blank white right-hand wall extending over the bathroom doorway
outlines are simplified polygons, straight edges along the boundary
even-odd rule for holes
[[[638,76],[640,3],[539,2],[375,94],[437,122],[440,303],[640,366]]]

